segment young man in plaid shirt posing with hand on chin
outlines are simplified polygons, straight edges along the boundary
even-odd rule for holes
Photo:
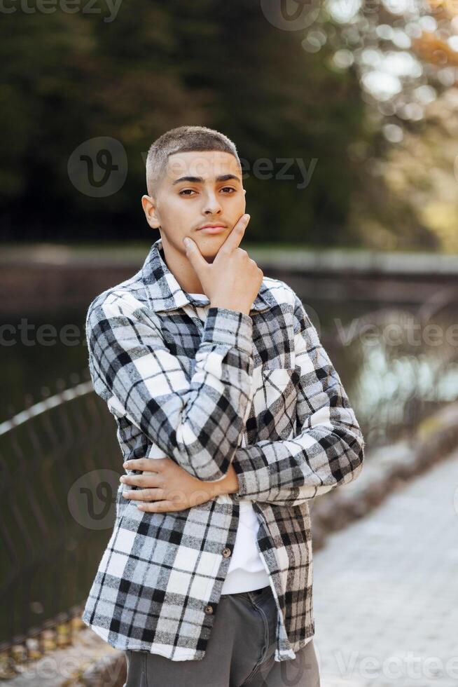
[[[316,687],[309,502],[361,472],[359,424],[299,297],[239,247],[233,142],[172,129],[146,180],[160,238],[86,319],[129,460],[83,620],[127,687]]]

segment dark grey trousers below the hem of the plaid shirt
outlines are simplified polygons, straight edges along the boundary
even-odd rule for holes
[[[296,659],[275,662],[277,606],[270,587],[223,594],[202,660],[125,651],[123,687],[320,687],[313,639]]]

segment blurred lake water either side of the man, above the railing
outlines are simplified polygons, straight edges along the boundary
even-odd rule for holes
[[[457,397],[457,304],[303,302],[373,442]],[[84,321],[81,309],[1,320],[0,421],[89,379]]]

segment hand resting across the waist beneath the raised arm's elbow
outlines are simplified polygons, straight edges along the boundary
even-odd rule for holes
[[[193,477],[172,458],[134,458],[123,467],[131,470],[148,470],[152,474],[122,475],[126,485],[125,498],[139,501],[137,508],[146,512],[162,513],[193,508],[218,496],[215,482],[204,482]],[[129,491],[132,484],[141,489]]]

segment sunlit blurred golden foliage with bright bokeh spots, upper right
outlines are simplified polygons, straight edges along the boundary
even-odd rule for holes
[[[457,252],[457,4],[327,0],[326,9],[339,27],[333,63],[355,68],[368,105],[370,145],[349,153],[359,170],[356,242]]]

